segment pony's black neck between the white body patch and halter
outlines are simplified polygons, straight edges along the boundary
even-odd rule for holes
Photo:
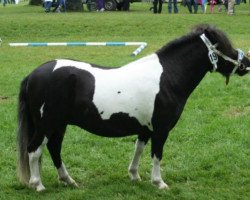
[[[177,98],[187,98],[211,68],[206,46],[199,37],[189,38],[177,46],[170,45],[157,54],[163,77]]]

